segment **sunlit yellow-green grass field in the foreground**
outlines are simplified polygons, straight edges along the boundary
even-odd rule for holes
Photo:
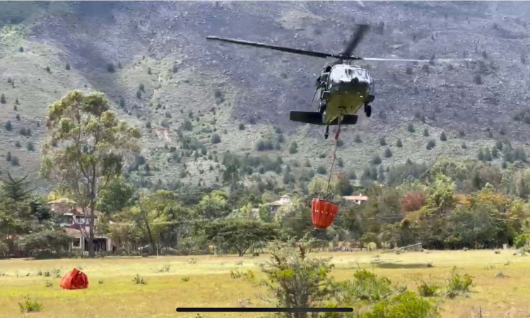
[[[393,283],[416,290],[410,278],[423,277],[443,283],[453,266],[473,276],[473,292],[454,300],[443,300],[442,317],[528,317],[530,305],[530,257],[511,250],[456,252],[318,253],[312,257],[333,257],[337,279],[351,278],[362,268],[373,269]],[[260,257],[149,257],[105,259],[57,259],[0,261],[0,317],[26,317],[18,302],[30,296],[42,303],[42,311],[30,317],[196,317],[177,314],[176,307],[236,307],[249,298],[249,307],[267,306],[259,300],[260,290],[241,278],[231,278],[230,270],[252,270],[259,276]],[[432,261],[433,266],[427,264]],[[160,272],[169,265],[167,272]],[[86,290],[61,290],[60,278],[73,267],[83,269],[90,286]],[[38,275],[49,271],[51,276]],[[507,277],[497,277],[502,271]],[[146,284],[136,284],[139,274]],[[184,279],[182,279],[184,278]],[[189,281],[186,281],[189,278]],[[47,282],[52,286],[47,287]],[[49,285],[48,283],[48,285]],[[203,317],[260,317],[259,314],[203,314]]]

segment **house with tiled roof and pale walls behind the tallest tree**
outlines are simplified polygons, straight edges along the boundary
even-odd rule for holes
[[[69,199],[58,199],[55,201],[48,202],[53,213],[58,214],[61,217],[61,228],[64,228],[66,234],[73,237],[71,243],[71,249],[81,249],[84,247],[84,251],[88,252],[88,236],[89,231],[89,216],[85,216],[81,209],[81,206],[76,202]],[[112,244],[112,240],[109,237],[98,233],[98,215],[100,212],[95,211],[94,216],[94,249],[96,252],[112,251],[116,247]]]

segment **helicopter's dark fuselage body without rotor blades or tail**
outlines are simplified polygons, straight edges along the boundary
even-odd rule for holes
[[[329,72],[328,72],[329,71]],[[373,80],[358,66],[337,64],[324,69],[320,76],[323,122],[330,124],[343,115],[353,115],[372,102]]]

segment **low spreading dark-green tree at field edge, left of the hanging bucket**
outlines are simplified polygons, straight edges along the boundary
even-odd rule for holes
[[[278,235],[275,225],[241,218],[209,223],[204,230],[208,240],[220,240],[224,245],[235,248],[240,257],[252,245],[273,240]]]

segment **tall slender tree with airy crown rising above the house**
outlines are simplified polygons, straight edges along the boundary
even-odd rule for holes
[[[95,206],[101,192],[122,175],[126,160],[139,153],[140,131],[116,118],[103,93],[81,90],[48,107],[46,128],[50,138],[42,146],[40,174],[56,179],[88,216],[88,254],[94,257]],[[54,148],[54,141],[62,147]]]

